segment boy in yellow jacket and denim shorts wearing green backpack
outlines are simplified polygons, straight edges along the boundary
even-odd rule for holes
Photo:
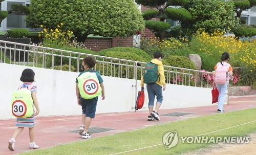
[[[160,120],[158,109],[162,104],[162,86],[163,91],[165,90],[165,77],[162,63],[163,54],[161,52],[154,53],[154,59],[146,64],[143,76],[141,77],[140,85],[144,86],[146,83],[148,93],[148,110],[150,115],[148,121]],[[156,108],[153,111],[155,97],[157,97]]]

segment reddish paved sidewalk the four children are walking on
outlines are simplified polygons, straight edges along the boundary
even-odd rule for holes
[[[171,103],[172,102],[170,101],[170,104]],[[225,112],[232,112],[235,110],[242,110],[253,107],[256,107],[256,95],[230,97],[229,105],[224,105]],[[216,106],[164,109],[159,110],[161,119],[160,121],[147,121],[148,112],[140,110],[137,112],[128,113],[96,114],[96,118],[92,121],[89,131],[91,130],[92,132],[92,138],[102,137],[156,124],[184,120],[193,117],[214,115],[217,114],[216,110]],[[179,114],[189,114],[180,117],[161,116],[175,112]],[[86,140],[81,139],[81,136],[79,136],[77,132],[79,126],[81,125],[81,116],[37,117],[36,122],[37,125],[35,127],[35,142],[40,146],[40,148]],[[17,154],[20,152],[29,151],[28,128],[25,128],[22,134],[20,134],[16,139],[15,151],[10,151],[8,149],[8,141],[12,137],[15,130],[14,123],[15,119],[0,119],[1,155]]]

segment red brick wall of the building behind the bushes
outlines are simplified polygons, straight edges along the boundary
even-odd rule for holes
[[[148,9],[148,7],[141,6],[141,12],[144,12]],[[157,20],[157,19],[153,19]],[[135,32],[134,32],[135,33]],[[148,29],[144,29],[141,33],[142,37],[155,37],[152,31]],[[87,49],[90,49],[94,52],[98,52],[100,50],[109,49],[113,47],[132,47],[133,46],[133,36],[130,37],[115,37],[115,38],[87,38],[84,42],[84,45]]]

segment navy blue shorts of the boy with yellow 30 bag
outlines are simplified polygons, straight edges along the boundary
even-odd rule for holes
[[[97,99],[84,99],[80,97],[82,105],[82,114],[86,114],[86,117],[95,118]]]

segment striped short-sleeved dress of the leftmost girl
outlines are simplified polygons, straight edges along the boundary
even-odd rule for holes
[[[36,85],[32,84],[32,82],[25,82],[22,85],[18,87],[18,89],[22,87],[28,87],[31,93],[37,92],[37,87]],[[34,112],[35,113],[35,112]],[[31,117],[28,118],[22,118],[22,117],[17,117],[16,127],[34,127],[35,126],[35,115],[33,114]]]

